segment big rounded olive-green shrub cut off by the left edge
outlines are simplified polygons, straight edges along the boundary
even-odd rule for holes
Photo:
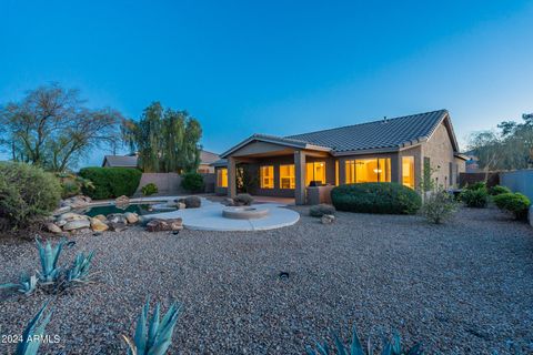
[[[58,179],[23,163],[0,163],[0,217],[12,229],[27,227],[56,210],[61,200]]]

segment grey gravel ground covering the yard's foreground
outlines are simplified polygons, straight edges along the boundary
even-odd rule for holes
[[[101,282],[53,302],[44,354],[119,354],[147,297],[183,304],[172,354],[302,354],[353,323],[365,338],[391,328],[429,354],[533,353],[533,229],[496,210],[463,209],[446,225],[420,216],[339,213],[265,232],[183,231],[73,237],[97,252]],[[74,251],[76,250],[76,251]],[[37,266],[30,242],[0,240],[0,281]],[[286,280],[280,271],[289,272]],[[2,334],[19,333],[47,298],[10,297]],[[530,345],[527,345],[530,344]],[[0,354],[9,354],[0,344]]]

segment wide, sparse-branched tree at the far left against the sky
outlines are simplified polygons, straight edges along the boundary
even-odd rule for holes
[[[83,105],[78,90],[49,84],[29,91],[20,102],[0,108],[0,144],[14,161],[51,171],[73,168],[94,148],[120,140],[122,115]]]

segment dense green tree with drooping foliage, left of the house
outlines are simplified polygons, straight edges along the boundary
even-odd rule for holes
[[[202,129],[187,111],[164,110],[153,102],[138,122],[125,121],[122,132],[145,172],[188,172],[200,164]]]

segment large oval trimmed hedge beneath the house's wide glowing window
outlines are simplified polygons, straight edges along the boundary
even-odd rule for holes
[[[393,182],[346,184],[331,191],[339,211],[361,213],[414,214],[422,200],[412,189]]]

